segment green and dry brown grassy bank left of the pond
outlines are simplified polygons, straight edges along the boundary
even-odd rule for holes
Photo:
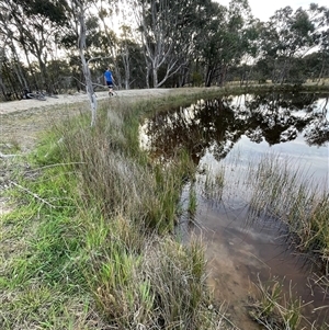
[[[185,151],[163,167],[138,147],[140,118],[162,103],[103,106],[93,128],[87,114],[54,123],[12,175],[1,329],[229,328],[211,304],[202,242],[172,235],[194,167]]]

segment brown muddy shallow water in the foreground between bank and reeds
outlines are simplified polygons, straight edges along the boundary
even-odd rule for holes
[[[186,186],[182,194],[185,207],[189,190]],[[180,234],[184,239],[194,232],[206,246],[208,284],[215,298],[227,304],[232,321],[240,329],[257,329],[247,316],[249,297],[258,294],[254,284],[274,277],[282,283],[284,293],[292,289],[294,297],[307,304],[304,316],[309,321],[328,320],[328,309],[314,312],[329,305],[329,295],[315,283],[315,274],[320,274],[317,263],[297,252],[277,220],[266,217],[248,220],[250,210],[246,201],[232,197],[237,203],[230,204],[230,195],[236,194],[237,191],[230,192],[218,204],[198,196],[193,219],[188,213],[181,218]]]

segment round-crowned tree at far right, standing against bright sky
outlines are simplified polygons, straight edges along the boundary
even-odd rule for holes
[[[300,71],[294,70],[296,58],[326,44],[324,30],[328,29],[328,9],[314,3],[307,10],[299,8],[295,12],[285,7],[270,18],[262,34],[262,59],[272,62],[273,82],[300,79],[296,76]]]

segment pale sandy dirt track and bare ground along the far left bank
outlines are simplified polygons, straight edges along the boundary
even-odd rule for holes
[[[177,91],[178,89],[124,90],[117,91],[112,98],[104,91],[98,92],[97,96],[99,101],[109,100],[115,104],[121,100],[161,96]],[[0,158],[11,153],[13,149],[22,152],[31,150],[36,143],[37,134],[48,127],[54,120],[81,109],[89,109],[86,93],[58,95],[57,99],[47,98],[46,101],[21,100],[0,103]]]

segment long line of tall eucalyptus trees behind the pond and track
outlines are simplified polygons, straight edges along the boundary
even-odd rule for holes
[[[95,1],[87,10],[76,1],[2,0],[0,98],[21,99],[24,90],[84,89],[79,15],[86,20],[83,49],[95,89],[107,66],[118,89],[322,83],[329,78],[326,7],[285,7],[261,22],[245,0],[228,7],[211,0],[124,2],[118,10],[125,25],[115,33],[109,27],[110,3]]]

